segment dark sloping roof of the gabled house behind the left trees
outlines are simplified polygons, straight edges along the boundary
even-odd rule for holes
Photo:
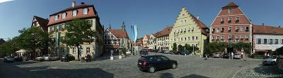
[[[38,16],[33,16],[33,18],[35,18],[35,20],[38,22],[38,24],[40,24],[40,28],[42,28],[42,30],[48,31],[48,26],[47,26],[48,20],[47,19],[41,18],[41,17],[38,17]]]

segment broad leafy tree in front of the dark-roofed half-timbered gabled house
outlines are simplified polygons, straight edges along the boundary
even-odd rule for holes
[[[23,28],[18,30],[21,35],[15,37],[15,42],[18,48],[31,50],[31,57],[35,59],[35,50],[43,50],[48,45],[48,33],[39,27]]]

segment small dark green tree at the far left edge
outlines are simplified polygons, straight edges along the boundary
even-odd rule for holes
[[[0,54],[9,55],[15,53],[19,48],[14,45],[13,40],[7,40],[6,43],[0,45]]]

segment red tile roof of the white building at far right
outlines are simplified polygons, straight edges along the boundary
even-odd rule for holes
[[[278,28],[274,26],[253,25],[253,34],[283,35],[283,28]]]

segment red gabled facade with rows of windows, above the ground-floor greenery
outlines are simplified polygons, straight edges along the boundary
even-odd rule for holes
[[[210,43],[250,43],[253,41],[253,24],[240,7],[233,2],[222,7],[210,26]],[[233,52],[233,48],[226,48]]]

